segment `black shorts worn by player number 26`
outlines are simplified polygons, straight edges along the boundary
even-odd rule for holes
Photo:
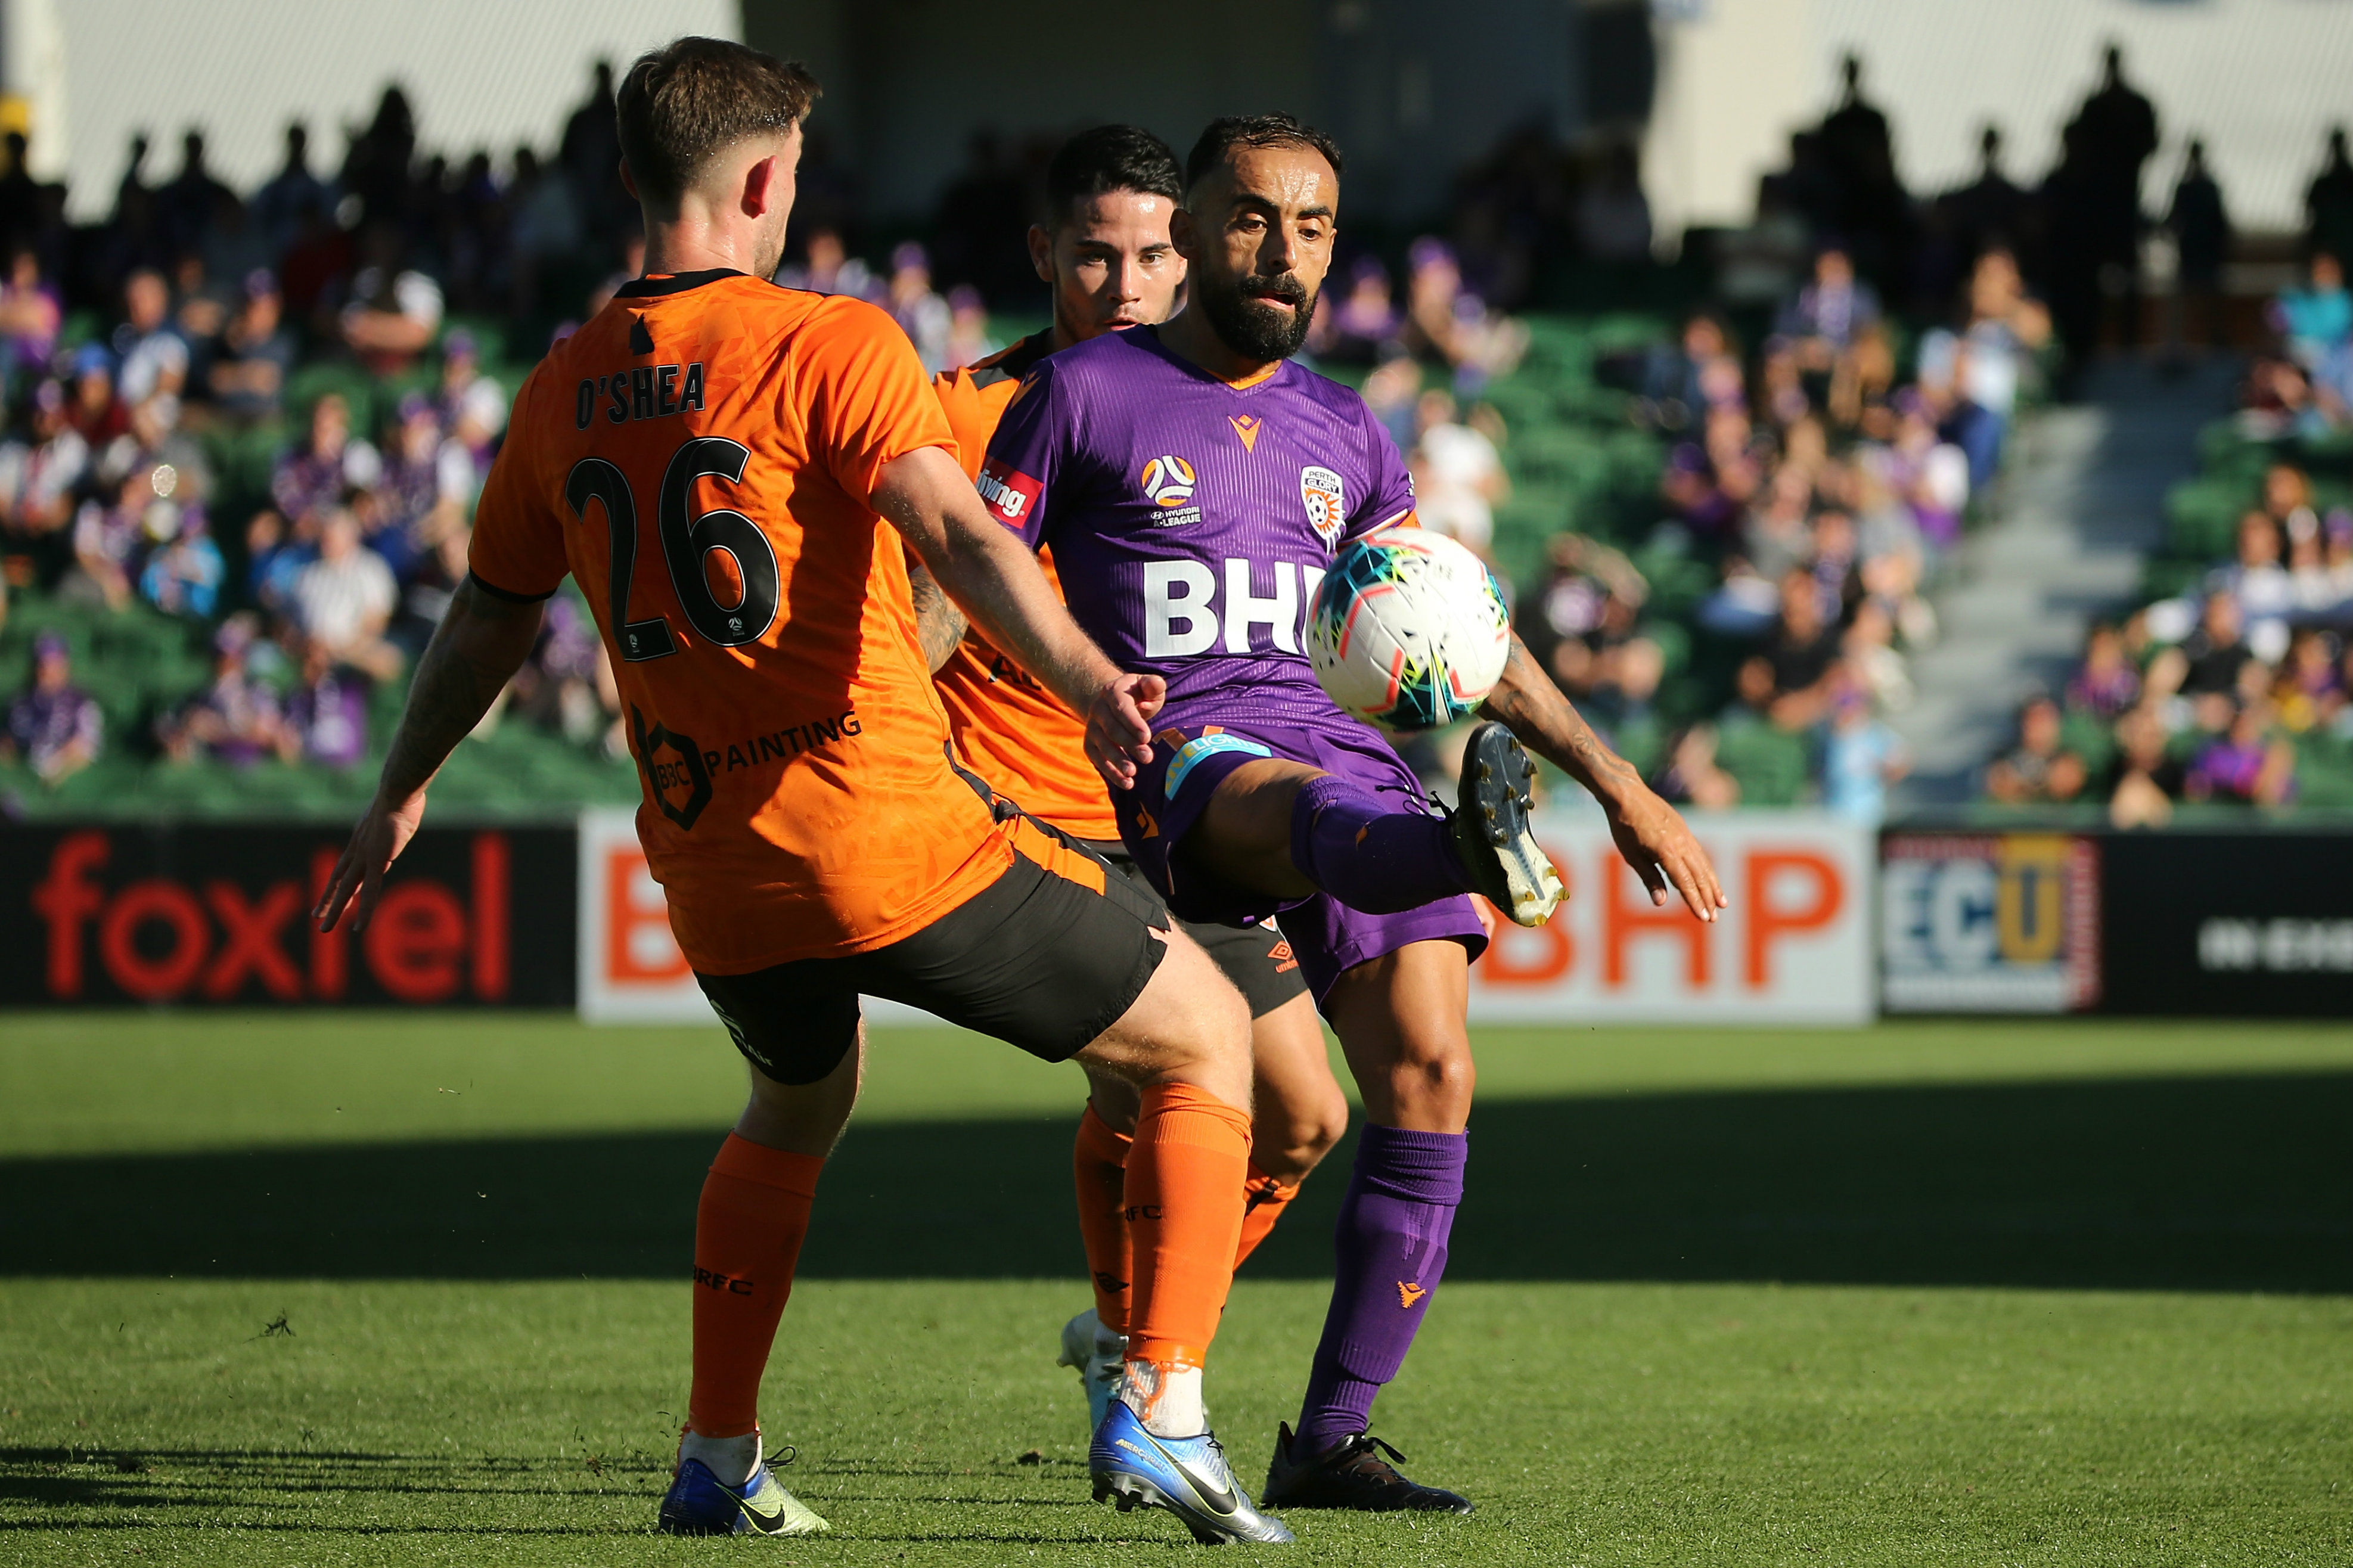
[[[859,994],[1068,1062],[1160,968],[1160,897],[1066,833],[1021,822],[1014,864],[913,937],[871,954],[701,975],[736,1050],[776,1083],[816,1083],[859,1036]]]

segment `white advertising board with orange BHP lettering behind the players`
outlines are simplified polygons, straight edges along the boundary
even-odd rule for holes
[[[1504,925],[1471,970],[1478,1022],[1861,1024],[1873,1015],[1866,829],[1814,812],[1697,822],[1732,909],[1701,925],[1654,909],[1598,817],[1555,815],[1539,841],[1569,902],[1537,930]],[[635,817],[586,812],[579,833],[579,1005],[593,1022],[708,1022],[645,869]],[[873,1022],[922,1022],[868,998]]]

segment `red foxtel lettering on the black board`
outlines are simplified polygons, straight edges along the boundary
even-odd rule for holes
[[[508,841],[471,833],[461,873],[393,866],[369,928],[320,932],[306,918],[325,892],[341,841],[320,843],[308,866],[252,857],[219,873],[125,869],[108,829],[56,838],[28,904],[47,930],[42,991],[87,1001],[104,989],[144,1003],[308,1001],[355,991],[400,1003],[504,1001],[508,994]],[[414,850],[412,850],[414,852]],[[212,857],[193,857],[212,859]],[[296,862],[299,864],[299,862]],[[153,869],[153,866],[146,866]],[[19,883],[21,885],[21,883]]]

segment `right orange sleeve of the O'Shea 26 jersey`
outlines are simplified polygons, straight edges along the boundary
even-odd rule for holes
[[[882,466],[955,431],[922,374],[915,344],[889,315],[859,299],[828,299],[802,334],[800,396],[812,454],[859,501],[871,504]]]

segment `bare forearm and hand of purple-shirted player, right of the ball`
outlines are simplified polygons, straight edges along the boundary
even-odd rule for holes
[[[1504,678],[1487,695],[1482,713],[1508,725],[1529,751],[1584,784],[1602,803],[1609,836],[1626,864],[1649,888],[1652,904],[1666,904],[1666,890],[1673,883],[1701,921],[1713,921],[1718,909],[1729,906],[1715,881],[1715,866],[1692,838],[1682,812],[1661,800],[1626,758],[1593,735],[1593,727],[1569,706],[1560,687],[1537,666],[1518,633],[1511,638]]]

